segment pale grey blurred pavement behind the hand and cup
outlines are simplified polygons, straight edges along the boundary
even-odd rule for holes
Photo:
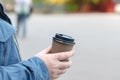
[[[120,80],[120,15],[32,15],[27,29],[19,38],[23,59],[51,45],[55,33],[76,39],[73,66],[58,80]]]

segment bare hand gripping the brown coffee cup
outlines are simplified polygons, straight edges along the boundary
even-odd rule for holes
[[[50,53],[50,51],[51,48],[47,48],[38,53],[36,56],[45,62],[50,73],[50,80],[54,80],[60,75],[64,74],[66,70],[71,66],[71,61],[68,59],[74,55],[74,51],[54,54]]]

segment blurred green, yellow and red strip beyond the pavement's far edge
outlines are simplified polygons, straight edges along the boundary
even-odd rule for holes
[[[7,12],[14,11],[15,0],[0,1],[4,3]],[[32,2],[34,12],[38,13],[79,13],[114,12],[120,0],[33,0]]]

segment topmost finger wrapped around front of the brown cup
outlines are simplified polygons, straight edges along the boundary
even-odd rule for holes
[[[61,52],[54,54],[58,60],[66,60],[74,55],[74,51]]]

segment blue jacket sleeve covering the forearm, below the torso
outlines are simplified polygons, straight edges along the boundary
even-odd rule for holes
[[[50,80],[49,71],[37,57],[9,66],[0,66],[0,80]]]

